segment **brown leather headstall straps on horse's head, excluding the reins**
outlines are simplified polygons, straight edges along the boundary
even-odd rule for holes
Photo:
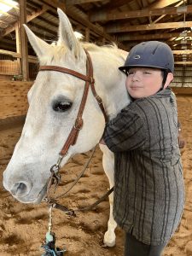
[[[90,54],[88,53],[87,50],[84,49],[84,51],[87,56],[86,75],[84,75],[82,73],[78,73],[72,69],[68,69],[66,67],[58,67],[58,66],[40,66],[39,67],[39,71],[56,71],[56,72],[61,72],[61,73],[67,73],[67,74],[70,74],[76,78],[79,78],[79,79],[85,81],[84,94],[82,96],[81,103],[79,106],[79,112],[78,112],[77,118],[75,120],[75,123],[73,125],[73,128],[67,137],[67,141],[66,141],[66,143],[64,143],[64,145],[61,149],[60,158],[59,158],[57,164],[55,165],[55,169],[57,169],[57,170],[55,170],[55,171],[58,171],[62,158],[67,154],[68,148],[71,145],[74,145],[76,143],[77,137],[79,135],[79,131],[82,129],[82,126],[83,126],[82,115],[84,113],[84,107],[85,107],[85,103],[87,100],[89,88],[91,88],[93,96],[96,98],[96,102],[98,103],[99,107],[102,110],[105,121],[107,122],[107,119],[108,119],[105,109],[103,107],[102,98],[96,94],[95,79],[93,78],[93,66],[92,66],[92,61],[90,59]]]

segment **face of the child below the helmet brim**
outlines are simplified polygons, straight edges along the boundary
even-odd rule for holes
[[[150,67],[133,67],[126,79],[126,88],[134,99],[154,95],[162,86],[160,69]]]

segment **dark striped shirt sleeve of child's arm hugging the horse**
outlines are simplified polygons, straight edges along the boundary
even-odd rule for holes
[[[141,148],[146,141],[143,119],[126,107],[108,122],[103,139],[113,152],[128,151]]]

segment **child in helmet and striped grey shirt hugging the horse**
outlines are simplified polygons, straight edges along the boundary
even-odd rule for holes
[[[160,256],[184,205],[177,105],[168,88],[172,50],[158,41],[137,44],[119,69],[132,102],[103,134],[115,159],[113,216],[125,230],[126,256]]]

